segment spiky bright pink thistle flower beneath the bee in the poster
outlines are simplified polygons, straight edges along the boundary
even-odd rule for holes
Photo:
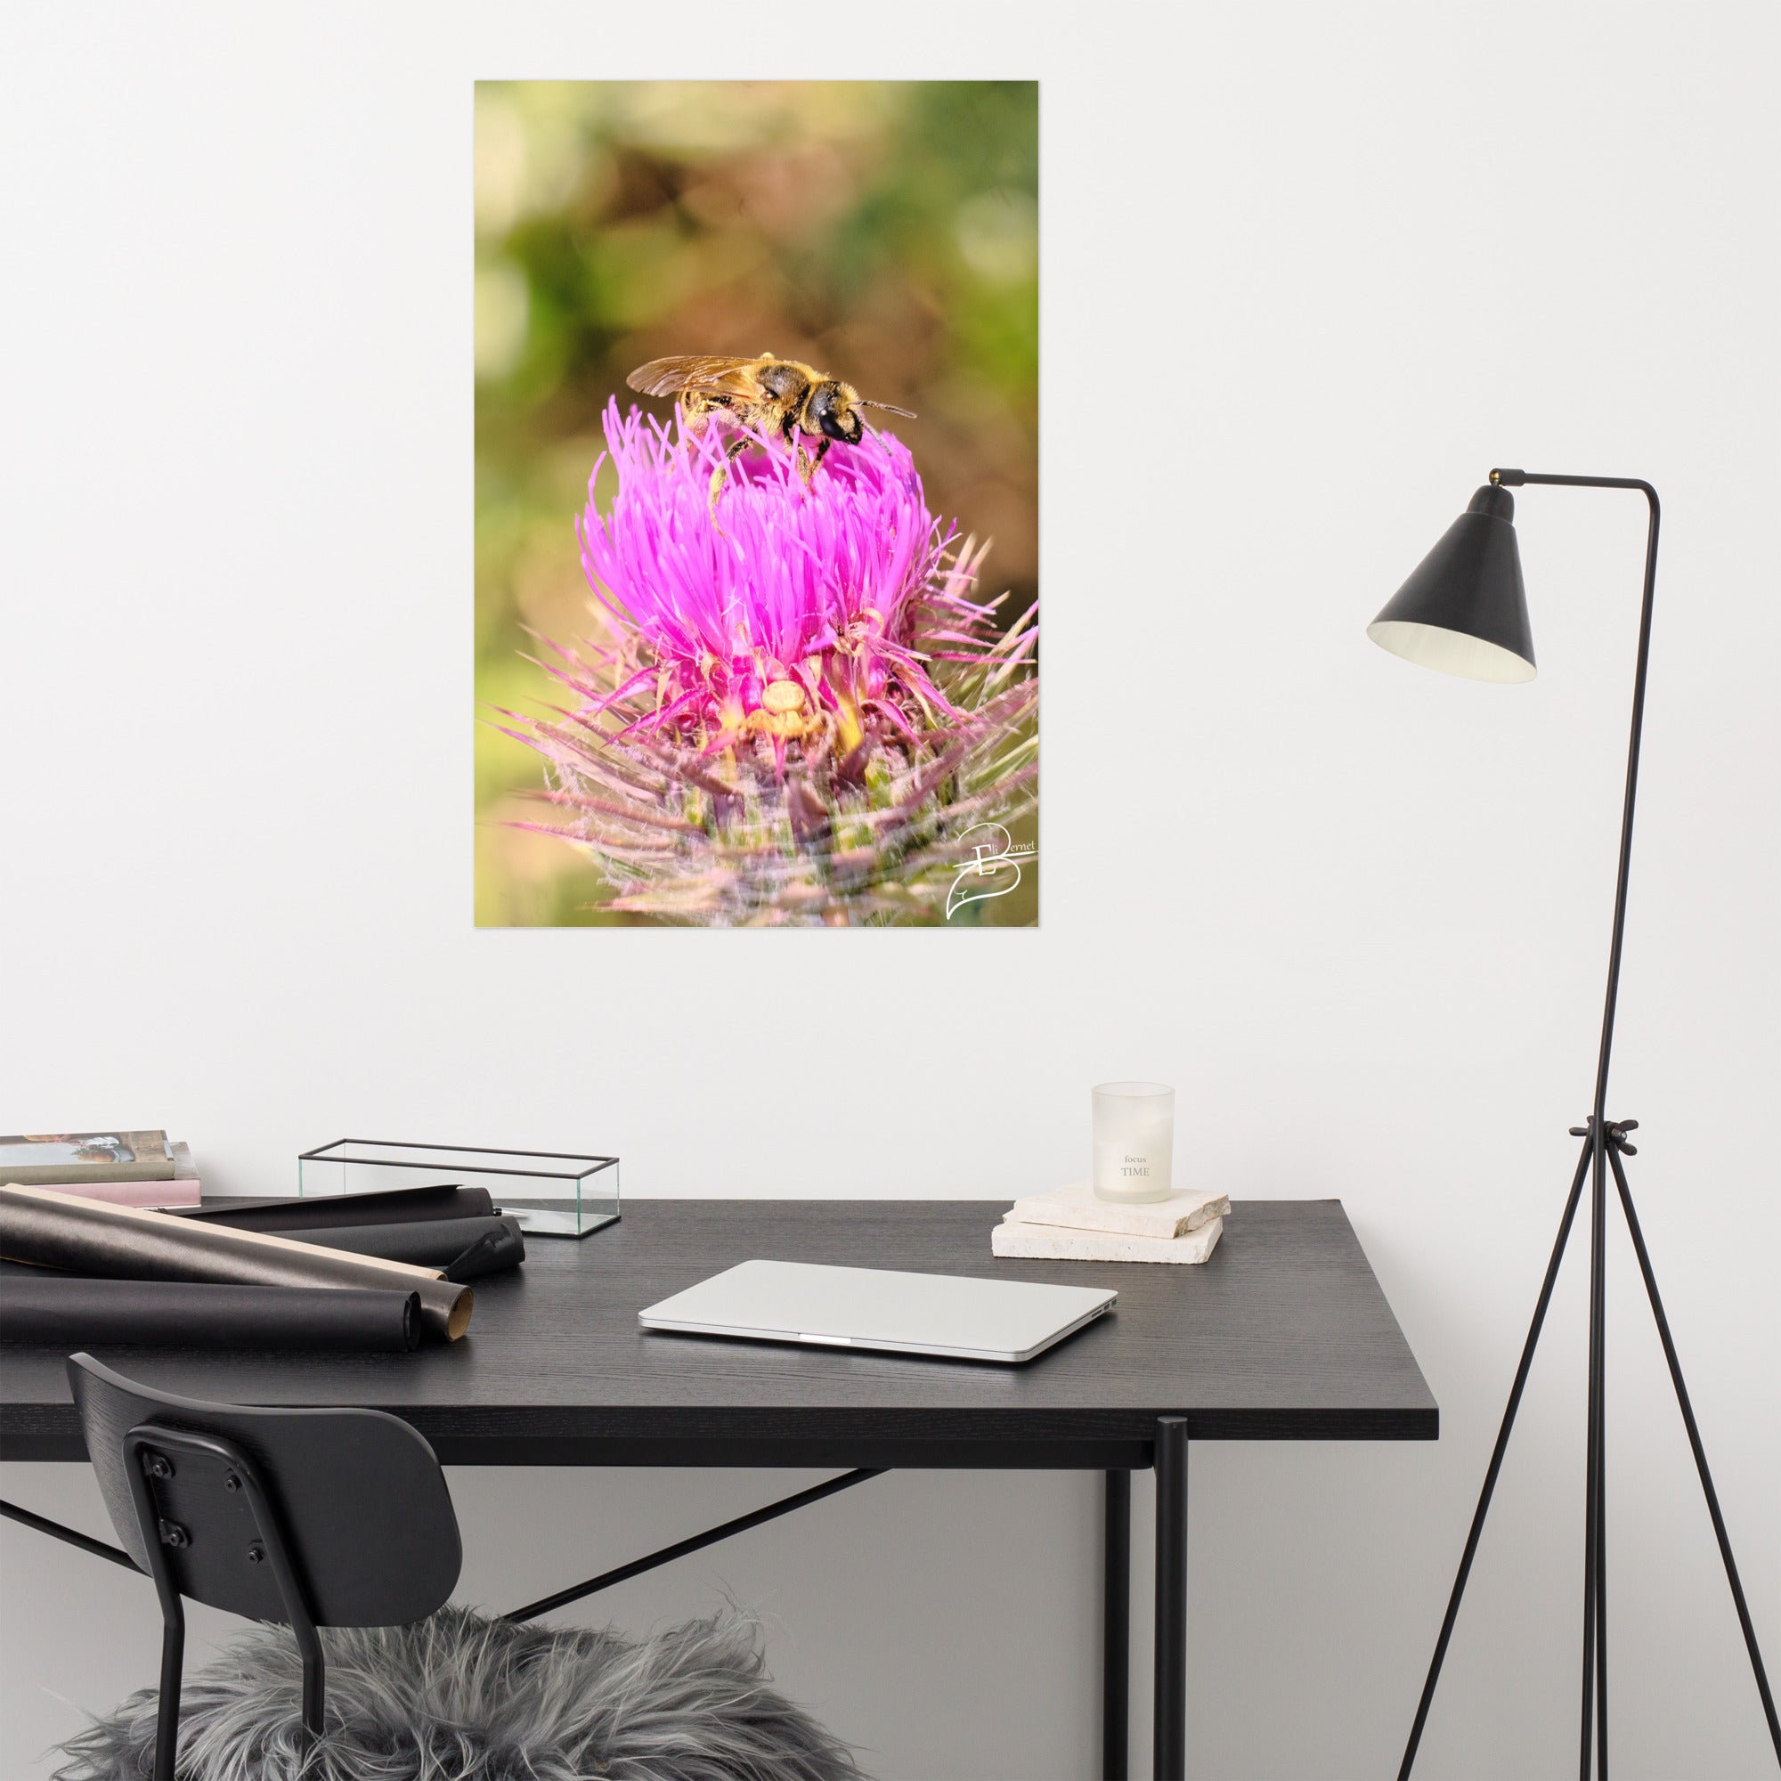
[[[1035,614],[971,598],[983,549],[930,515],[890,435],[805,488],[777,442],[606,413],[581,561],[611,645],[550,645],[577,703],[504,712],[607,907],[707,926],[944,919],[971,825],[1037,780]],[[721,484],[716,500],[712,488]]]

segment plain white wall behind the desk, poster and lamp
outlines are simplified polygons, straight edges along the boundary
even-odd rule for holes
[[[1637,497],[1521,497],[1532,687],[1362,625],[1492,463],[1646,476],[1610,1111],[1781,1669],[1777,50],[1761,4],[9,9],[0,1126],[164,1124],[235,1191],[388,1131],[609,1145],[638,1195],[1006,1199],[1079,1167],[1092,1081],[1179,1083],[1188,1172],[1341,1195],[1443,1411],[1195,1452],[1191,1770],[1389,1772],[1589,1102]],[[470,82],[668,73],[1044,80],[1037,933],[470,926]],[[782,974],[832,1031],[780,1070],[741,1038]],[[1427,1776],[1574,1749],[1582,1273]],[[1637,1291],[1617,1236],[1615,1767],[1767,1774]],[[0,1473],[102,1525],[78,1469]],[[787,1482],[456,1473],[465,1590]],[[892,1476],[602,1612],[757,1601],[883,1777],[1085,1776],[1094,1516],[1086,1478]],[[45,1774],[151,1681],[153,1605],[0,1555],[0,1767]]]

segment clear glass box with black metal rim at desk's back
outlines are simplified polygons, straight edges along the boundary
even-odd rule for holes
[[[305,1199],[447,1183],[488,1188],[527,1236],[591,1236],[618,1222],[616,1156],[338,1138],[297,1158],[297,1193]]]

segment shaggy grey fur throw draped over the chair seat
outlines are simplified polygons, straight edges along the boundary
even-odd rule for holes
[[[443,1608],[415,1626],[324,1628],[328,1731],[305,1751],[303,1665],[258,1626],[185,1681],[180,1781],[858,1781],[725,1612],[632,1644]],[[55,1781],[144,1781],[155,1690],[62,1745]]]

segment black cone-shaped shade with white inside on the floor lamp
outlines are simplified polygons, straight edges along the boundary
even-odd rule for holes
[[[1393,655],[1468,680],[1532,680],[1533,630],[1521,586],[1516,497],[1487,484],[1366,634]]]

